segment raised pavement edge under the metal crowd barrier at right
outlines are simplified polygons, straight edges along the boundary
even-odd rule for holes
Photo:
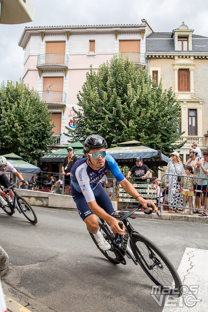
[[[118,215],[118,213],[119,213],[119,211],[115,211],[115,214]],[[191,216],[189,214],[189,212],[185,212],[185,215],[181,215],[181,212],[180,213],[176,213],[176,212],[169,213],[168,211],[163,210],[162,216],[160,216],[160,217],[158,217],[155,213],[152,213],[151,215],[146,215],[143,212],[137,212],[137,211],[135,213],[138,214],[138,218],[145,218],[145,219],[208,223],[208,217],[199,217],[198,214],[194,214],[193,216]]]

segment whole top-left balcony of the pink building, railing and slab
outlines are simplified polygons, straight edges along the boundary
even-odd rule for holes
[[[37,57],[37,69],[68,69],[69,56],[67,54],[46,53]]]

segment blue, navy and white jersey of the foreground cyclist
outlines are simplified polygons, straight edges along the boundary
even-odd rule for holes
[[[70,178],[71,185],[78,193],[83,193],[87,202],[95,200],[93,191],[108,169],[119,182],[125,178],[115,159],[109,154],[106,154],[104,167],[99,170],[90,168],[86,161],[87,158],[82,158],[73,165]]]

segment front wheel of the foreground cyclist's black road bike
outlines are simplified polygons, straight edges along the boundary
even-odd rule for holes
[[[134,233],[130,245],[143,271],[166,294],[181,295],[181,279],[165,254],[148,238]]]

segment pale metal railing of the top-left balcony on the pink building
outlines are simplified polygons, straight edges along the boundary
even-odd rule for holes
[[[66,54],[58,54],[58,53],[40,54],[37,57],[37,67],[44,65],[68,66],[69,56]]]

